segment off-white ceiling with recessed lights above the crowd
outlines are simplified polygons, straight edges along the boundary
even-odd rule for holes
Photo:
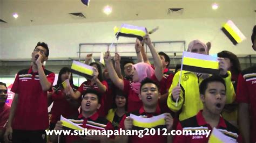
[[[28,26],[65,23],[107,22],[142,19],[177,18],[231,18],[253,17],[256,0],[216,1],[214,11],[211,0],[91,0],[89,7],[80,0],[0,0],[0,19],[8,22],[1,26]],[[103,13],[105,5],[112,6],[112,13]],[[169,8],[184,8],[182,15],[167,15]],[[12,13],[17,12],[15,19]],[[86,19],[73,18],[68,13],[82,12]],[[138,16],[136,15],[138,14]],[[32,20],[32,22],[31,22]]]

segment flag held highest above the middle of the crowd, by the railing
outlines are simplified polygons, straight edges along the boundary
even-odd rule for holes
[[[119,36],[131,37],[131,38],[138,38],[140,41],[142,41],[143,37],[146,35],[146,28],[133,26],[129,24],[123,24],[121,28],[118,28],[115,26],[114,33],[116,34],[117,38],[119,38]]]

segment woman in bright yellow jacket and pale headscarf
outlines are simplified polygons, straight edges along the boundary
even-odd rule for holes
[[[193,40],[188,45],[187,52],[207,54],[207,46],[199,41]],[[219,70],[220,76],[223,77],[226,83],[226,104],[233,103],[235,99],[235,92],[231,82],[231,73],[227,71],[228,65],[223,58],[219,58]],[[178,71],[172,81],[171,88],[169,89],[169,96],[167,99],[167,105],[174,112],[180,112],[179,120],[185,120],[187,118],[197,115],[199,110],[203,109],[203,103],[200,100],[199,85],[207,74],[194,73],[191,71],[182,71],[181,77]],[[178,82],[180,80],[180,86]],[[177,101],[177,103],[176,103]],[[216,105],[216,108],[218,105]]]

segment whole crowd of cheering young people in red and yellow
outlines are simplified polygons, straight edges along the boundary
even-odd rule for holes
[[[256,49],[256,26],[252,34]],[[152,54],[154,64],[147,59],[144,44]],[[187,52],[207,55],[211,45],[193,40]],[[18,72],[11,91],[15,93],[11,108],[5,105],[6,85],[0,82],[0,142],[207,142],[206,135],[56,135],[48,137],[45,130],[67,130],[60,116],[88,130],[143,130],[133,125],[132,115],[151,118],[164,113],[165,125],[172,130],[213,130],[217,128],[238,142],[255,142],[256,68],[241,71],[236,55],[228,51],[218,53],[219,75],[178,71],[170,73],[170,58],[156,52],[147,34],[136,40],[138,63],[124,63],[110,52],[104,56],[105,70],[92,62],[93,77],[76,87],[71,69],[59,71],[57,84],[52,87],[55,74],[42,63],[48,60],[49,48],[38,42],[32,52],[32,65]],[[92,54],[86,56],[89,64]],[[182,73],[180,73],[182,72]],[[181,78],[180,82],[179,79]],[[69,79],[70,86],[62,82]],[[48,106],[53,102],[49,125]],[[157,128],[157,127],[156,127]],[[238,132],[238,128],[240,133]]]

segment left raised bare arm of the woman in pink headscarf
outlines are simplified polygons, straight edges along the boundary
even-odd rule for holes
[[[114,70],[113,64],[111,62],[111,55],[110,52],[107,51],[104,56],[104,60],[106,63],[107,71],[109,72],[110,79],[116,85],[119,89],[123,90],[124,89],[124,81],[120,79]]]

